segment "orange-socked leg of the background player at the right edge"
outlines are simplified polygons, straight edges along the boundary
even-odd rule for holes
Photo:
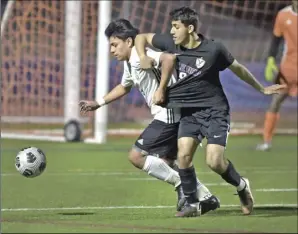
[[[281,84],[284,83],[284,76],[279,73],[277,76],[276,83]],[[283,101],[287,98],[288,92],[284,92],[281,94],[275,94],[272,96],[272,100],[265,114],[264,120],[264,129],[263,129],[263,143],[257,145],[257,150],[267,151],[271,148],[271,141],[274,134],[274,130],[279,120],[279,110],[283,103]]]

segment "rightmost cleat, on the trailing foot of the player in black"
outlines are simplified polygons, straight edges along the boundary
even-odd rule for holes
[[[237,191],[241,202],[241,210],[243,214],[249,215],[253,211],[254,198],[252,196],[249,181],[246,178],[242,178],[245,181],[245,187],[241,191]]]

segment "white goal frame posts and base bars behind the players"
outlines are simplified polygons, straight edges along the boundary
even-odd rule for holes
[[[6,29],[9,17],[12,15],[15,0],[9,0],[1,20],[1,37]],[[98,1],[98,28],[97,28],[97,58],[96,58],[96,88],[95,98],[108,92],[109,84],[109,42],[105,37],[104,30],[111,21],[112,2],[108,0]],[[51,122],[67,124],[76,121],[80,124],[88,122],[88,118],[80,117],[80,76],[81,76],[81,25],[82,25],[82,0],[69,0],[65,2],[65,69],[64,69],[64,116],[62,118],[47,117],[3,117],[2,121],[10,123],[27,122]],[[107,106],[100,108],[95,113],[94,136],[84,139],[86,143],[105,143],[107,138],[108,109]],[[64,136],[53,136],[51,134],[32,134],[1,132],[2,138],[8,139],[28,139],[28,140],[49,140],[66,141]]]

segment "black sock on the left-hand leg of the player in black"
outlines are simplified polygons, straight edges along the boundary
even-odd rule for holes
[[[193,166],[186,169],[179,169],[183,193],[188,204],[198,202],[197,198],[197,177]]]

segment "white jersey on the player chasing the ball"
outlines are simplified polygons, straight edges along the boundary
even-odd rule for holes
[[[151,109],[154,119],[165,123],[176,123],[180,120],[180,109],[167,109],[153,104],[153,95],[159,86],[160,81],[160,56],[162,52],[157,52],[147,48],[147,55],[156,62],[154,69],[143,70],[140,67],[140,58],[135,47],[131,50],[129,62],[124,62],[124,71],[121,85],[124,87],[135,86],[142,93],[147,105]],[[172,75],[169,85],[176,82]]]

